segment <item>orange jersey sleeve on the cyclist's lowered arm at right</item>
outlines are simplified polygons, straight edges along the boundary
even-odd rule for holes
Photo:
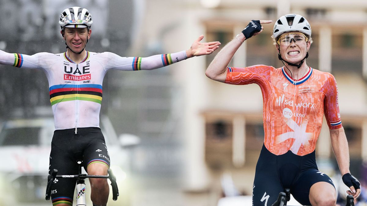
[[[322,89],[325,94],[324,114],[327,125],[329,129],[339,129],[342,127],[342,121],[339,111],[338,87],[333,75],[330,74]]]

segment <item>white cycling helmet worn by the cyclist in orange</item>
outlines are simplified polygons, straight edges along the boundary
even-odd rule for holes
[[[290,22],[288,24],[288,22]],[[287,14],[281,16],[274,25],[273,35],[276,39],[284,32],[302,32],[311,37],[311,26],[308,21],[299,14]]]

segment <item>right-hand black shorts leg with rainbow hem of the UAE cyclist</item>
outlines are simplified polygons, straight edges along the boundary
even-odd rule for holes
[[[84,169],[88,171],[88,166],[95,163],[105,165],[107,168],[109,168],[110,157],[101,129],[91,128],[91,132],[88,135],[87,144],[88,146],[83,152]]]

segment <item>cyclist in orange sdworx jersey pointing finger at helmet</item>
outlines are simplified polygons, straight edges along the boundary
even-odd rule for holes
[[[348,142],[341,124],[335,78],[305,62],[312,43],[308,21],[301,15],[288,14],[275,22],[273,39],[283,67],[227,67],[241,44],[261,33],[262,23],[271,22],[252,20],[215,56],[206,75],[227,84],[255,83],[261,88],[265,139],[256,166],[252,204],[271,205],[279,192],[290,188],[302,205],[335,206],[334,184],[317,169],[315,160],[324,114],[342,179],[350,188],[347,193],[358,196],[360,185],[349,172]]]

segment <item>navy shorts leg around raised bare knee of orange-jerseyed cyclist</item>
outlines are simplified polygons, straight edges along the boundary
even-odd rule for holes
[[[294,186],[291,189],[294,199],[296,199],[302,205],[311,205],[309,200],[310,188],[313,184],[318,182],[329,183],[333,185],[335,190],[334,183],[331,181],[329,176],[317,169],[309,169],[305,172],[302,172],[299,179],[294,183]]]

